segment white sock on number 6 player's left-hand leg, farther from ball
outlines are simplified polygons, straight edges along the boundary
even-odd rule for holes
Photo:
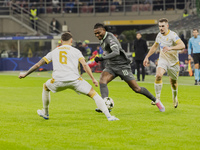
[[[47,115],[49,114],[50,91],[46,91],[44,88],[42,91],[42,102],[45,115]]]

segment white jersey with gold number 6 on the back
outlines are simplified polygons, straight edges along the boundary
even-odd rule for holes
[[[49,52],[43,59],[53,63],[52,78],[55,81],[73,81],[80,77],[78,64],[84,59],[82,53],[70,46],[62,45]]]

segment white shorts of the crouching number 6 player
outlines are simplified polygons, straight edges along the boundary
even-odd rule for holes
[[[46,82],[46,86],[53,93],[60,92],[66,89],[72,89],[78,94],[81,93],[85,95],[87,95],[92,88],[92,86],[82,78],[74,81],[54,81],[54,79],[49,79]]]

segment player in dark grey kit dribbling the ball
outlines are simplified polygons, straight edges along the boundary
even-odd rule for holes
[[[161,112],[165,107],[159,99],[156,99],[145,87],[140,87],[131,72],[130,60],[127,58],[125,51],[122,49],[117,38],[110,32],[107,32],[104,25],[97,23],[94,25],[94,34],[100,40],[100,46],[105,52],[102,57],[96,57],[95,61],[107,60],[106,67],[100,77],[100,92],[102,98],[108,97],[107,84],[115,77],[119,76],[129,87],[136,93],[142,94],[154,101]],[[96,109],[101,112],[100,109]]]

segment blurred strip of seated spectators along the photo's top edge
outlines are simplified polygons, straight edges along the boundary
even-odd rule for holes
[[[32,5],[39,13],[92,13],[123,11],[160,11],[191,7],[191,0],[4,0],[0,5],[16,4],[29,10]]]

